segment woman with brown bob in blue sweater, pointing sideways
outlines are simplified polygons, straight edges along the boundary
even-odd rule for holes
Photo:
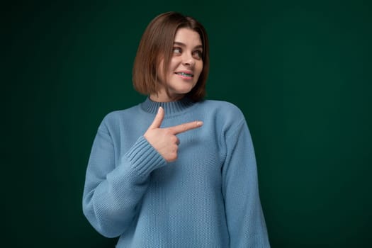
[[[201,23],[150,22],[133,67],[148,97],[106,115],[86,170],[84,214],[117,247],[269,247],[247,123],[203,100],[208,71]]]

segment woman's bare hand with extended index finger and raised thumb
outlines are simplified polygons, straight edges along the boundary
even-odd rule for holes
[[[176,135],[191,129],[200,128],[203,122],[196,120],[169,128],[160,128],[163,119],[164,109],[160,107],[154,121],[143,136],[167,162],[173,162],[177,159],[179,148],[179,138]]]

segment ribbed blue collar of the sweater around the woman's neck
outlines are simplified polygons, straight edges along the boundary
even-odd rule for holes
[[[171,101],[171,102],[157,102],[152,101],[150,97],[147,97],[146,100],[141,103],[141,108],[149,113],[157,113],[160,106],[164,108],[165,115],[175,115],[177,113],[181,113],[185,111],[187,108],[193,106],[195,104],[191,101],[190,98],[184,97],[179,101]]]

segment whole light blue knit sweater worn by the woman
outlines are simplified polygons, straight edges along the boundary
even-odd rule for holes
[[[166,162],[143,137],[159,106],[162,128],[193,120]],[[224,101],[145,102],[106,115],[86,170],[84,215],[117,247],[270,247],[252,139]]]

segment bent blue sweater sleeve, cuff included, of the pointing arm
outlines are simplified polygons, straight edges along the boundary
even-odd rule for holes
[[[151,171],[166,164],[143,136],[119,162],[115,162],[114,148],[109,133],[98,129],[83,193],[84,215],[105,237],[117,237],[132,224]]]

